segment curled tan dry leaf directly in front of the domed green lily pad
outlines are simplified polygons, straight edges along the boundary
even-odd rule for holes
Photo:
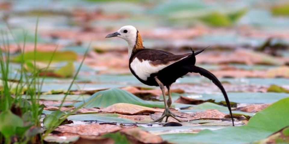
[[[153,109],[150,107],[143,107],[135,104],[118,103],[113,104],[107,108],[101,109],[101,113],[119,113],[123,115],[136,115],[139,113],[155,113],[163,112],[162,109]]]

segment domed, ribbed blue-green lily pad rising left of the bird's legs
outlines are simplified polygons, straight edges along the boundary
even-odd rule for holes
[[[104,91],[98,91],[84,102],[78,102],[74,104],[74,106],[79,107],[83,103],[86,103],[84,106],[85,108],[108,107],[117,103],[135,104],[144,107],[164,107],[163,104],[144,101],[137,96],[119,88],[111,88]]]

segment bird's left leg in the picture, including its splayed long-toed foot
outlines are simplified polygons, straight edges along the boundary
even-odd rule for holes
[[[156,82],[159,84],[160,89],[162,90],[162,93],[163,93],[163,102],[164,102],[164,104],[165,104],[165,111],[163,112],[163,115],[162,115],[160,118],[154,120],[153,122],[162,122],[164,117],[166,117],[166,121],[165,121],[165,122],[167,122],[168,117],[170,117],[170,116],[171,116],[172,118],[176,119],[176,120],[179,121],[179,122],[183,122],[182,120],[176,118],[176,115],[173,114],[173,113],[171,112],[171,110],[169,110],[169,107],[168,107],[168,104],[167,104],[167,101],[166,101],[165,87],[164,87],[163,83],[157,78],[157,76],[154,77],[154,78],[155,78]]]

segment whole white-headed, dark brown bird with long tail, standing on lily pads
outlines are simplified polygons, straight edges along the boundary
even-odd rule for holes
[[[117,32],[108,34],[105,38],[113,37],[122,38],[128,43],[129,69],[132,74],[145,85],[159,86],[162,91],[165,110],[162,116],[153,122],[162,122],[165,117],[165,122],[169,117],[183,122],[178,119],[178,117],[183,117],[177,116],[170,110],[172,104],[170,87],[177,79],[187,73],[199,73],[210,79],[222,91],[234,126],[230,101],[222,83],[213,73],[195,65],[196,55],[206,48],[198,52],[192,50],[191,53],[181,55],[163,50],[148,49],[143,46],[141,35],[134,26],[123,26]],[[168,90],[168,101],[166,101],[165,87]]]

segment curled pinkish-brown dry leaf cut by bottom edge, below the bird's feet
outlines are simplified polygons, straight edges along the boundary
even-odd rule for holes
[[[132,143],[164,143],[160,136],[143,131],[139,128],[126,128],[120,130]]]

